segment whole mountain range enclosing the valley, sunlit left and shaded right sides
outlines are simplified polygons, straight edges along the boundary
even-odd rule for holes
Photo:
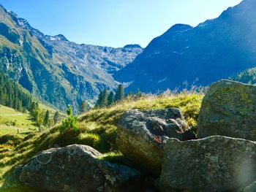
[[[176,24],[143,49],[78,45],[48,36],[0,7],[0,70],[60,110],[95,104],[104,88],[157,93],[223,78],[255,82],[256,1],[222,12],[196,27]],[[252,68],[252,69],[251,69]]]

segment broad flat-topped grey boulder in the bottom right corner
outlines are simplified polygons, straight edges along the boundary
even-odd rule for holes
[[[168,139],[158,185],[163,191],[233,191],[256,179],[256,142],[212,136]]]

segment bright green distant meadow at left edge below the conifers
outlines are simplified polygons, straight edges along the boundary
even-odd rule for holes
[[[34,122],[31,116],[26,113],[18,112],[10,107],[0,105],[0,136],[4,134],[16,134],[35,131]]]

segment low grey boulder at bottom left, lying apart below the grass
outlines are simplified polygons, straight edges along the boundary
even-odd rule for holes
[[[99,160],[86,145],[69,145],[39,153],[20,169],[20,181],[45,191],[120,191],[139,172]]]

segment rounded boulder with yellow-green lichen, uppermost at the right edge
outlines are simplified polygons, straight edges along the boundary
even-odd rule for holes
[[[256,86],[221,80],[206,93],[197,137],[212,135],[256,140]]]

